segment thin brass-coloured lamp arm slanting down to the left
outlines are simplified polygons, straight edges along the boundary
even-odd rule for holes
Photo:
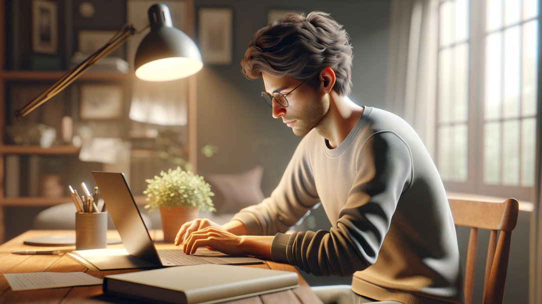
[[[68,85],[70,85],[77,78],[79,78],[79,76],[81,76],[89,68],[91,68],[92,65],[109,55],[112,51],[120,47],[120,45],[124,44],[129,38],[131,38],[135,34],[136,32],[132,25],[130,23],[125,24],[122,29],[120,29],[119,33],[115,35],[117,37],[114,36],[102,48],[95,51],[94,54],[89,56],[85,61],[81,62],[77,67],[64,74],[59,80],[57,80],[47,90],[37,96],[33,101],[29,102],[20,110],[15,110],[15,116],[17,118],[27,116],[31,111],[39,107],[42,103],[48,101],[50,98],[54,97],[60,91],[68,87]]]

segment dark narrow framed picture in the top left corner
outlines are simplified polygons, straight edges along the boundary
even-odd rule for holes
[[[32,1],[32,51],[56,54],[58,51],[58,8],[48,0]]]

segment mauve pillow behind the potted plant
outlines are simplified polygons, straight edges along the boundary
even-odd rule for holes
[[[205,180],[215,193],[212,202],[215,204],[216,214],[237,213],[244,207],[260,203],[264,199],[262,175],[261,166],[241,173],[208,174]]]

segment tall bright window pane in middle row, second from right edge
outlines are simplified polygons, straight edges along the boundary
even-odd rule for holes
[[[519,103],[520,87],[520,35],[519,26],[505,30],[505,67],[504,67],[504,116],[518,117],[521,104]]]

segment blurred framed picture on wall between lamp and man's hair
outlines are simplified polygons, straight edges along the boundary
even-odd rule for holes
[[[203,63],[231,64],[233,11],[228,8],[201,8],[198,21],[198,42]]]

